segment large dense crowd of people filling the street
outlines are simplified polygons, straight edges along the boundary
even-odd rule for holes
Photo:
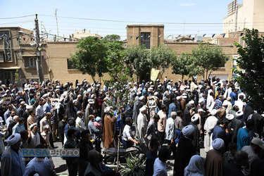
[[[51,158],[25,160],[20,150],[55,149],[54,142],[80,149],[80,157],[63,158],[69,175],[117,174],[101,154],[118,145],[140,146],[145,175],[168,175],[169,159],[173,175],[263,175],[263,111],[245,103],[235,80],[165,77],[125,89],[127,106],[116,110],[117,90],[108,84],[0,81],[1,175],[54,175]]]

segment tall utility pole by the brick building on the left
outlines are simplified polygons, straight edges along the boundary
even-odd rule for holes
[[[40,37],[39,37],[39,20],[37,20],[37,14],[36,18],[34,19],[34,29],[35,29],[35,38],[37,42],[37,49],[36,49],[36,55],[37,55],[37,75],[39,76],[39,83],[42,83],[44,81],[44,75],[43,75],[43,67],[42,67],[42,52],[41,52],[41,44],[40,44]]]

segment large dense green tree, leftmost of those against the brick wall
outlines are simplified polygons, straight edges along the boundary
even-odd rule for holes
[[[85,37],[77,44],[77,49],[78,51],[70,57],[70,61],[82,74],[91,75],[95,82],[96,74],[101,77],[108,71],[105,61],[107,48],[101,39]]]

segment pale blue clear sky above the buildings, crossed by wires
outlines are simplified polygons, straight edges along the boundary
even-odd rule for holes
[[[34,14],[38,14],[39,28],[43,32],[57,34],[57,9],[58,34],[61,37],[86,29],[101,36],[119,34],[126,39],[125,27],[133,24],[164,24],[164,37],[180,34],[191,34],[192,37],[206,34],[205,37],[211,37],[212,34],[222,34],[222,20],[227,16],[227,6],[231,1],[0,0],[0,27],[18,26],[33,30]],[[238,2],[241,4],[242,0]],[[21,16],[26,17],[15,18]]]

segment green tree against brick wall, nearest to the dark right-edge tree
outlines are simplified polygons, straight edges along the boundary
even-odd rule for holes
[[[224,67],[229,60],[220,46],[209,46],[209,44],[200,43],[198,48],[192,50],[192,55],[195,65],[201,67],[201,75],[204,79],[208,79],[213,71]]]

